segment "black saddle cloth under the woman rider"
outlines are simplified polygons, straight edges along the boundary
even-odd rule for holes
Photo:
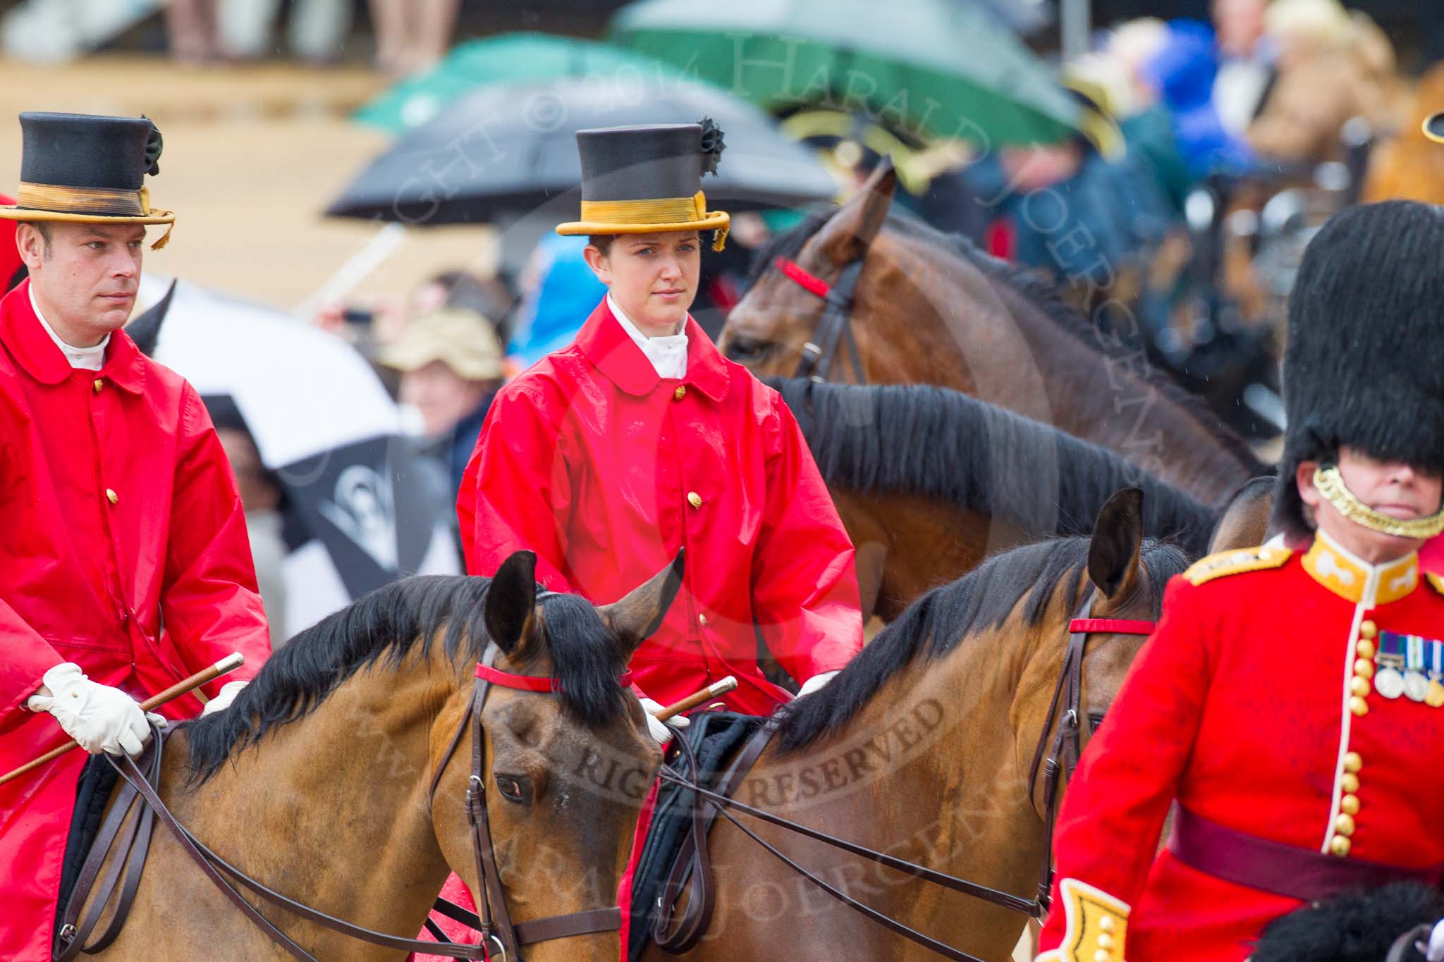
[[[752,737],[765,721],[757,715],[731,711],[710,711],[692,715],[692,724],[682,730],[697,756],[699,780],[715,787],[726,762]],[[670,757],[670,756],[669,756]],[[671,873],[687,829],[692,828],[693,792],[669,782],[657,792],[647,842],[641,850],[632,875],[631,929],[627,939],[627,959],[635,962],[651,942],[651,925],[657,912],[657,896]]]

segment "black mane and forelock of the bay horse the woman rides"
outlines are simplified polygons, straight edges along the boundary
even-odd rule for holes
[[[1073,604],[1087,577],[1087,538],[1053,538],[993,555],[952,584],[933,588],[874,637],[832,682],[784,708],[777,737],[783,751],[799,751],[839,731],[898,672],[933,661],[973,632],[998,629],[1024,601],[1022,620],[1038,625],[1058,584]],[[1145,539],[1139,561],[1148,573],[1154,617],[1168,578],[1188,567],[1174,545]]]

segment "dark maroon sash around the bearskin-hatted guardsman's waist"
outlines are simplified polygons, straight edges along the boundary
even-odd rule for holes
[[[1444,865],[1401,868],[1360,858],[1334,858],[1313,848],[1249,835],[1174,805],[1168,851],[1199,871],[1298,901],[1323,901],[1349,888],[1393,881],[1438,886]]]

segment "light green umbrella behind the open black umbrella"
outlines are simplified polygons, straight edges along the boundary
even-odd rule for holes
[[[598,78],[621,91],[674,78],[677,68],[637,50],[552,33],[503,33],[458,43],[440,63],[390,88],[354,120],[399,134],[488,84]]]

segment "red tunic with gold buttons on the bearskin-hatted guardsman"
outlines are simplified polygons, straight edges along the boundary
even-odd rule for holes
[[[1414,555],[1370,568],[1323,535],[1307,552],[1225,552],[1174,578],[1058,818],[1058,878],[1132,906],[1126,946],[1108,958],[1243,959],[1300,906],[1170,851],[1155,858],[1175,798],[1226,828],[1330,857],[1444,862],[1444,708],[1373,689],[1369,640],[1444,639],[1441,590]],[[1064,935],[1058,899],[1056,888],[1044,948]],[[1080,948],[1095,958],[1092,942]]]

